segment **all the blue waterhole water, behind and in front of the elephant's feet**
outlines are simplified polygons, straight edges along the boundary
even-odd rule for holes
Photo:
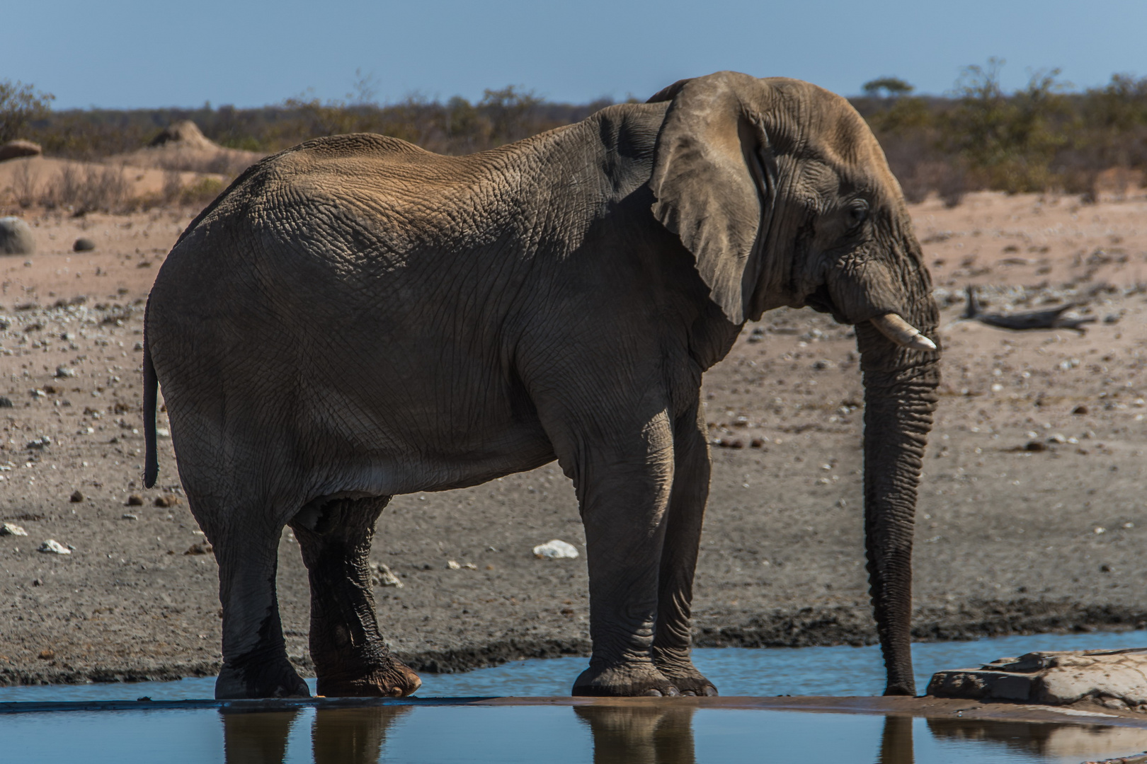
[[[1147,632],[1036,636],[914,646],[921,690],[941,668],[1032,649],[1147,645]],[[724,695],[872,695],[879,649],[699,649]],[[567,695],[585,659],[517,661],[458,675],[423,675],[422,696]],[[133,685],[0,688],[0,702],[210,698],[213,679]],[[1147,749],[1147,730],[904,718],[764,709],[412,703],[301,708],[0,714],[0,761],[373,764],[1078,764]]]

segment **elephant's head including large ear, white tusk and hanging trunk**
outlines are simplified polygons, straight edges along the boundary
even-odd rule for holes
[[[912,533],[936,403],[931,281],[899,184],[844,99],[735,72],[684,80],[650,186],[654,215],[734,324],[782,305],[856,324],[865,384],[865,526],[888,694],[914,692]]]

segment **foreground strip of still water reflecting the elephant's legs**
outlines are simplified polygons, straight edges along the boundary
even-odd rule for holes
[[[396,704],[0,715],[5,762],[1079,764],[1147,730],[756,709]]]

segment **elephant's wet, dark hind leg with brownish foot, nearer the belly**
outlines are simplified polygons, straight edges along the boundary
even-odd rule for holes
[[[390,654],[374,614],[367,557],[389,501],[334,499],[290,522],[311,580],[311,657],[320,695],[401,698],[422,685]]]

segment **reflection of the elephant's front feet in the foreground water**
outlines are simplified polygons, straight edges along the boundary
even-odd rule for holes
[[[692,707],[578,706],[593,734],[593,764],[694,764]]]

